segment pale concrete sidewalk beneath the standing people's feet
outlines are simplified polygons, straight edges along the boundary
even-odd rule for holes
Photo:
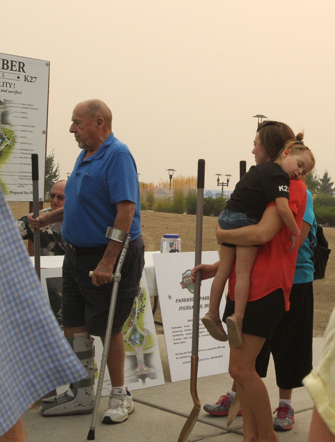
[[[171,382],[164,335],[157,335],[162,359],[165,385],[136,390],[133,394],[135,412],[118,425],[103,425],[103,412],[108,398],[100,400],[95,440],[116,442],[177,442],[179,433],[193,408],[190,396],[190,381]],[[321,357],[323,338],[313,340],[313,364]],[[290,367],[287,367],[290,370]],[[275,382],[274,365],[271,358],[268,375],[264,380],[269,392],[272,410],[278,407],[278,388]],[[202,406],[216,402],[231,388],[228,373],[198,379],[198,396]],[[291,431],[278,433],[281,442],[305,442],[308,439],[312,416],[312,400],[305,387],[293,391],[295,424]],[[189,441],[242,442],[242,417],[237,417],[229,429],[226,417],[215,417],[201,409]],[[39,404],[23,415],[27,442],[84,442],[87,440],[91,415],[43,417]]]

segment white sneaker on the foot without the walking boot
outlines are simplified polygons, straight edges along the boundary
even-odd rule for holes
[[[128,419],[135,407],[133,397],[126,389],[126,392],[119,389],[112,389],[109,397],[108,410],[103,415],[103,423],[121,423]]]

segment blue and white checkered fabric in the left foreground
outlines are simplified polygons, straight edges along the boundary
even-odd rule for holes
[[[0,435],[86,371],[64,338],[0,188]]]

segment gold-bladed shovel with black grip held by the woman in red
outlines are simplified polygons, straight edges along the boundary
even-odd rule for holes
[[[201,264],[202,251],[202,214],[204,208],[204,187],[205,187],[205,160],[198,160],[198,194],[197,194],[197,219],[195,229],[195,266]],[[193,297],[193,327],[192,327],[192,356],[191,356],[191,378],[190,392],[193,399],[193,408],[190,412],[182,431],[179,434],[178,442],[186,442],[195,423],[197,422],[201,404],[197,392],[198,377],[198,347],[199,347],[199,311],[200,311],[200,282],[201,275],[197,272],[194,282]]]

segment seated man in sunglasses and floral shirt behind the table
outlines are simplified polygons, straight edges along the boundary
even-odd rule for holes
[[[40,213],[50,212],[51,210],[64,207],[66,181],[61,179],[53,185],[50,193],[50,207],[40,210]],[[28,215],[17,220],[19,230],[24,240],[34,242],[34,232],[29,227]],[[40,229],[41,256],[65,255],[65,244],[61,238],[62,223],[49,224]]]

